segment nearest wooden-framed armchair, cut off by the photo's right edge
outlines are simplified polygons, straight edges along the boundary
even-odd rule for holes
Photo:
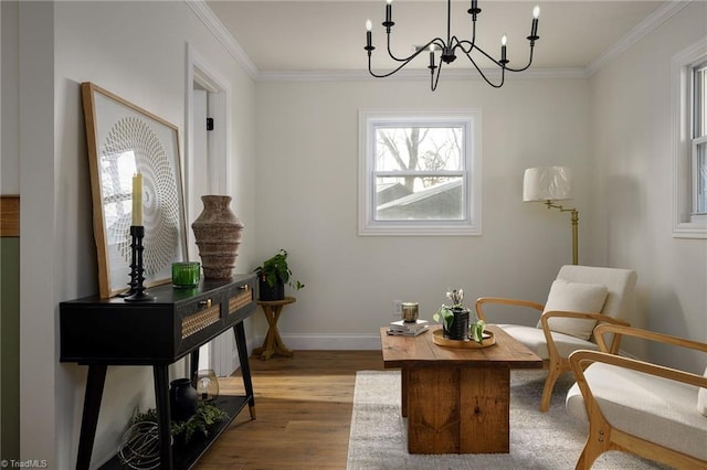
[[[677,469],[707,468],[707,371],[701,376],[619,356],[610,352],[603,337],[631,335],[675,351],[700,351],[705,361],[707,343],[613,324],[597,327],[594,334],[600,351],[570,355],[577,384],[567,394],[566,407],[571,415],[589,420],[577,469],[590,469],[609,450]]]

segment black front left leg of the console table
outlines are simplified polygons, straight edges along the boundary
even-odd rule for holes
[[[76,457],[76,470],[88,470],[93,442],[96,437],[103,386],[106,383],[106,365],[89,365],[86,378],[86,392],[84,396],[84,410],[81,418],[81,437],[78,438],[78,456]]]

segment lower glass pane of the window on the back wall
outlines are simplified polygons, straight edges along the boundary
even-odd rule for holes
[[[376,178],[377,221],[464,220],[463,178]]]

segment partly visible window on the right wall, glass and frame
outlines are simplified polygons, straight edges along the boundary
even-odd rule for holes
[[[707,39],[673,58],[677,237],[707,238]]]

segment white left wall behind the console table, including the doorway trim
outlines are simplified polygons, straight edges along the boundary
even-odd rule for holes
[[[232,209],[246,225],[243,273],[255,263],[247,231],[254,84],[184,2],[20,2],[18,10],[20,153],[8,157],[20,163],[22,197],[21,457],[67,469],[75,464],[86,367],[59,363],[57,306],[98,290],[80,83],[94,82],[183,130],[187,43],[230,82],[229,177]],[[6,11],[13,9],[3,6],[3,21]],[[152,403],[148,368],[109,368],[94,466],[115,453],[134,407]]]

